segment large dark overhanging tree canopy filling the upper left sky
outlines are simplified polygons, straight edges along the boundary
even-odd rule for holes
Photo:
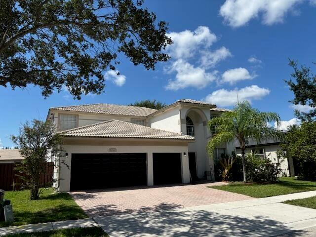
[[[117,53],[154,69],[172,43],[167,24],[141,7],[143,0],[1,0],[0,85],[40,86],[43,96],[101,93],[103,72]]]

